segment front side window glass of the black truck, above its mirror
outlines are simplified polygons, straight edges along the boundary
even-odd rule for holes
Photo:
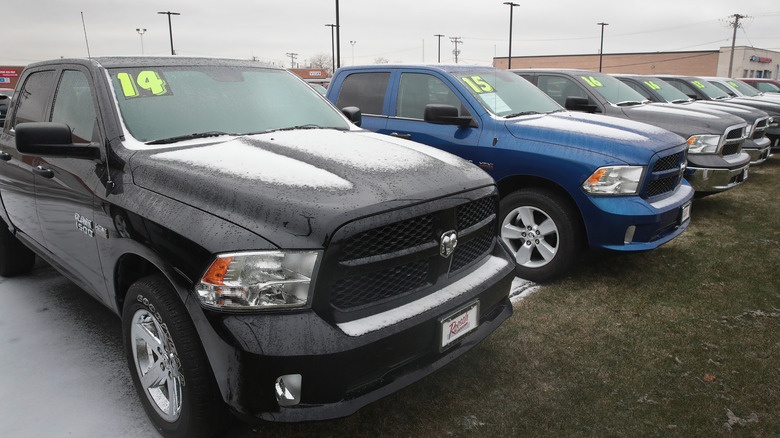
[[[84,73],[74,70],[63,72],[54,98],[51,121],[68,125],[73,143],[89,143],[92,140],[97,112]]]

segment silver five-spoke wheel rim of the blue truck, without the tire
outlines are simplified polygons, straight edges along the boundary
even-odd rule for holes
[[[540,268],[558,253],[560,243],[555,221],[536,207],[511,210],[501,224],[501,239],[509,246],[518,265]]]

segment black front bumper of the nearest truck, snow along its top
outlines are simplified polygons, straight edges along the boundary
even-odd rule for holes
[[[214,363],[230,363],[217,384],[245,420],[324,420],[350,415],[441,368],[492,333],[512,314],[514,263],[503,244],[468,274],[431,295],[379,315],[336,324],[314,310],[267,314],[207,312],[221,348]],[[479,302],[479,325],[440,351],[441,320]],[[298,374],[300,403],[280,406],[274,386]]]

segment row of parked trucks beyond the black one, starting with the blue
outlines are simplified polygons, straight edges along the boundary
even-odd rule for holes
[[[327,97],[361,126],[485,169],[519,276],[560,276],[587,248],[655,248],[688,225],[691,198],[731,189],[780,139],[780,101],[730,97],[737,80],[586,70],[364,66]],[[606,117],[609,116],[609,117]],[[353,117],[354,118],[354,117]]]

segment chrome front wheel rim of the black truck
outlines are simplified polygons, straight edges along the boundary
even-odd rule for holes
[[[146,309],[133,314],[130,328],[135,371],[157,414],[168,422],[181,415],[181,362],[168,330]]]

